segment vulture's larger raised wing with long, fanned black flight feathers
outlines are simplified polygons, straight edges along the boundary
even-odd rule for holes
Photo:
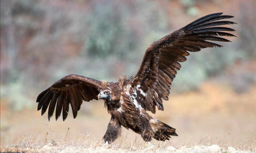
[[[188,56],[189,52],[198,52],[206,47],[222,47],[206,40],[230,42],[219,36],[234,36],[222,31],[235,30],[213,27],[236,24],[231,21],[217,21],[233,17],[221,14],[210,14],[197,19],[155,41],[146,49],[138,72],[129,82],[133,89],[137,88],[137,94],[143,95],[140,98],[141,107],[152,113],[156,112],[155,106],[158,110],[164,110],[162,98],[168,100],[171,82],[181,68],[179,62],[186,61],[185,56]]]

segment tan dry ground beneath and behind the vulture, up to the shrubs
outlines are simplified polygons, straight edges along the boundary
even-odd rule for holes
[[[228,85],[208,81],[198,91],[173,94],[164,101],[165,111],[153,117],[176,128],[179,136],[165,143],[152,141],[149,146],[126,129],[114,144],[103,146],[110,119],[103,101],[84,102],[77,118],[69,115],[65,122],[54,118],[48,122],[36,109],[13,112],[1,101],[1,152],[207,152],[205,146],[214,144],[222,152],[232,152],[230,147],[252,152],[256,149],[255,93],[255,85],[237,94]]]

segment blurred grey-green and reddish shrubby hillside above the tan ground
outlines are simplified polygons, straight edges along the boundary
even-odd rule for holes
[[[34,106],[41,91],[68,74],[107,81],[134,75],[146,47],[177,30],[170,25],[187,24],[188,15],[201,17],[198,4],[218,3],[177,2],[178,14],[169,10],[171,1],[0,1],[1,99],[22,109]],[[239,24],[234,25],[241,36],[233,43],[220,43],[223,48],[191,53],[171,92],[196,89],[237,58],[255,59],[256,20],[248,16],[254,9],[242,6]]]

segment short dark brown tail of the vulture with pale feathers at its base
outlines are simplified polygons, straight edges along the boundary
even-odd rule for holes
[[[176,133],[176,129],[161,121],[158,121],[157,119],[151,119],[150,125],[154,131],[154,138],[158,141],[169,140],[169,138],[171,138],[171,135],[178,136],[178,134]]]

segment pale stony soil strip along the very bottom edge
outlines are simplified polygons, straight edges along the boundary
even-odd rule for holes
[[[172,146],[164,147],[161,145],[146,145],[117,147],[115,145],[106,146],[53,146],[53,145],[37,145],[34,147],[13,147],[5,150],[5,152],[255,152],[251,148],[238,149],[234,147],[211,146],[183,146],[174,148]]]

